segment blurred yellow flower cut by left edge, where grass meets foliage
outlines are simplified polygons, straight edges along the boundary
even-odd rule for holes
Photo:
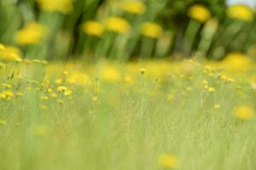
[[[22,61],[20,58],[21,52],[19,48],[12,46],[5,46],[3,49],[0,49],[0,59],[5,61]]]

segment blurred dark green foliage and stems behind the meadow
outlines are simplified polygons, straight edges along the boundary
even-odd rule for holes
[[[45,9],[50,2],[55,2],[52,3],[55,7],[62,3],[64,9]],[[252,7],[240,5],[242,8],[234,8],[230,15],[227,12],[230,7],[224,0],[147,0],[136,1],[145,5],[145,12],[132,14],[121,8],[124,2],[127,1],[1,0],[0,43],[19,47],[22,57],[32,59],[183,59],[191,56],[224,59],[230,52],[256,58]],[[211,15],[204,21],[196,20],[188,12],[196,5],[203,6]],[[200,8],[194,13],[204,16]],[[107,31],[101,36],[84,31],[86,21],[104,23],[109,16],[127,21],[130,31],[125,34]],[[15,41],[17,32],[31,22],[47,28],[42,41],[31,44]],[[143,36],[140,28],[145,22],[157,23],[162,28],[161,33],[157,37]],[[120,26],[119,23],[114,25]],[[26,35],[23,38],[26,39]]]

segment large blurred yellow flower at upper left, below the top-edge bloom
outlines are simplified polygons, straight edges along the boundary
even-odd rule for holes
[[[43,41],[46,34],[46,28],[37,22],[27,24],[22,30],[15,34],[15,41],[23,44],[37,44]]]

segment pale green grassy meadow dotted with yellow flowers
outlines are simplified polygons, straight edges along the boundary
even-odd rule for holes
[[[232,65],[1,64],[0,169],[255,169],[255,65]]]

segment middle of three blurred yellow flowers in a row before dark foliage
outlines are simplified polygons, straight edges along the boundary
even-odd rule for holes
[[[109,17],[105,20],[106,29],[121,34],[130,31],[130,24],[127,20],[120,17]]]

